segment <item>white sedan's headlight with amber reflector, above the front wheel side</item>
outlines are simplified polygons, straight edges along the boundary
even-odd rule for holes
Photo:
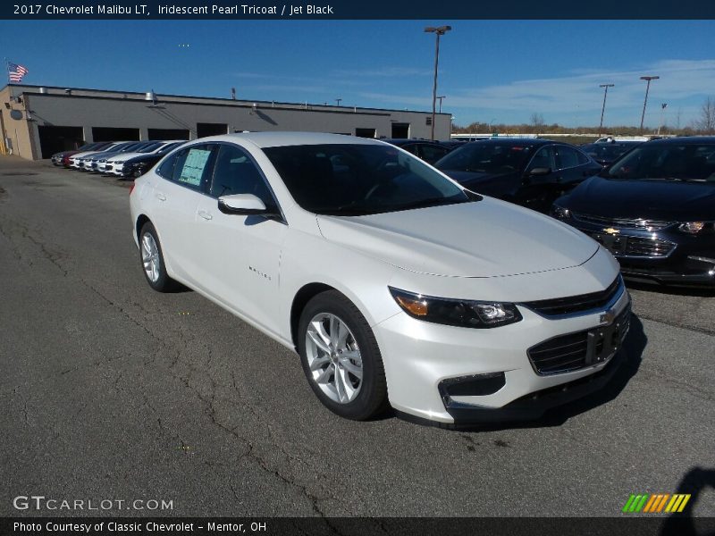
[[[388,289],[405,313],[425,322],[463,328],[496,328],[522,319],[514,304],[424,296],[392,287]]]

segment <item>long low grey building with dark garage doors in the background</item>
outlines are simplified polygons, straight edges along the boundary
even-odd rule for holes
[[[242,130],[429,138],[432,113],[11,84],[0,89],[0,150],[38,160],[90,141],[195,139]],[[450,113],[434,137],[450,138]]]

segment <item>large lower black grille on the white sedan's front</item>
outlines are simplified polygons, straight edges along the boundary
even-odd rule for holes
[[[561,335],[529,348],[529,360],[543,376],[603,363],[615,355],[629,327],[630,305],[609,325]]]

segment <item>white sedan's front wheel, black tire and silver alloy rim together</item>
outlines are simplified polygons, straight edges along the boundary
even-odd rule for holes
[[[334,414],[363,421],[387,407],[380,348],[357,307],[337,290],[311,299],[299,322],[303,372]]]

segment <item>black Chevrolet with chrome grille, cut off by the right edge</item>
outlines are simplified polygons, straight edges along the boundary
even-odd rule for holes
[[[551,215],[601,242],[627,276],[715,286],[715,138],[635,147]]]

